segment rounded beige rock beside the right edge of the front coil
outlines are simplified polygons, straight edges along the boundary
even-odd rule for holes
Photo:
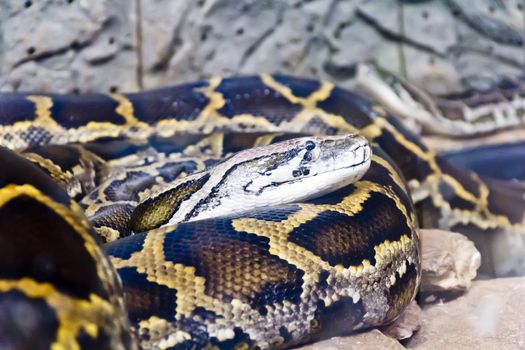
[[[465,236],[448,231],[422,229],[421,291],[462,292],[476,277],[481,255]]]

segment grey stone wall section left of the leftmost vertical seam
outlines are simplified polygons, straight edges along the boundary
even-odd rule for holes
[[[0,89],[138,89],[134,2],[10,1],[0,18]]]

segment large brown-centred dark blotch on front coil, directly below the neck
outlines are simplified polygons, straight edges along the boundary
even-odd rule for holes
[[[303,271],[268,249],[267,238],[237,232],[221,218],[180,224],[164,241],[166,260],[194,266],[206,279],[206,294],[224,302],[237,298],[257,310],[296,303],[302,292]]]

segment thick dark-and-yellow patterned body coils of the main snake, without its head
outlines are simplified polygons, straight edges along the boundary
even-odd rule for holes
[[[370,142],[360,180],[170,225],[172,207],[211,178],[195,174],[237,165],[254,146],[336,134]],[[3,93],[0,144],[3,348],[288,348],[384,325],[415,297],[418,226],[467,234],[487,273],[525,266],[523,190],[456,169],[381,106],[329,82]],[[308,161],[310,144],[297,147],[265,169]]]

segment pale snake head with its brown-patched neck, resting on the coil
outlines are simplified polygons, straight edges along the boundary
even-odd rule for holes
[[[368,141],[357,135],[302,137],[250,148],[139,204],[131,228],[142,232],[319,197],[359,180],[371,153]]]

